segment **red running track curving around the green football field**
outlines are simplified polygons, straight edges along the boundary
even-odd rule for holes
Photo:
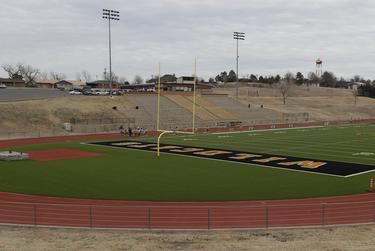
[[[0,141],[0,148],[118,138],[118,134]],[[130,202],[0,193],[0,224],[126,229],[279,228],[375,222],[375,194],[278,201]]]

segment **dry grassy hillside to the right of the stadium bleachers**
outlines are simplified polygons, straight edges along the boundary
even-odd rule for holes
[[[323,87],[293,87],[283,104],[277,88],[219,88],[244,105],[261,106],[281,113],[309,113],[309,119],[349,120],[375,117],[375,99],[355,97],[352,90]],[[238,93],[238,95],[237,95]]]

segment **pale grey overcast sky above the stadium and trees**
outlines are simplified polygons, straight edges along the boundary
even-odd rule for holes
[[[113,71],[134,75],[240,76],[315,69],[375,78],[375,1],[370,0],[0,0],[0,64],[24,62],[74,79],[108,68],[108,23],[102,9],[121,12],[112,24]],[[0,70],[0,77],[6,73]]]

